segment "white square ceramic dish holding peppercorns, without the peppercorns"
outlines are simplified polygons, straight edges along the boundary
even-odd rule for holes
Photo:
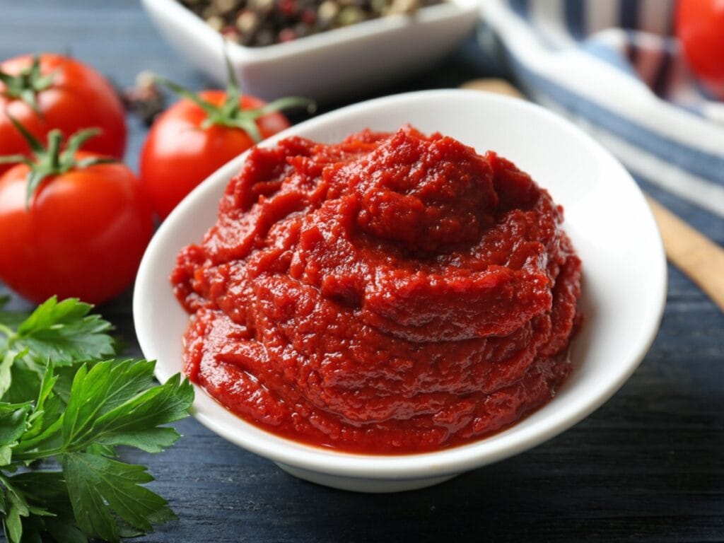
[[[191,64],[226,83],[222,38],[176,0],[141,0],[161,35]],[[241,88],[270,100],[328,101],[405,77],[442,59],[476,25],[478,0],[449,0],[414,17],[382,17],[267,47],[228,43]]]

